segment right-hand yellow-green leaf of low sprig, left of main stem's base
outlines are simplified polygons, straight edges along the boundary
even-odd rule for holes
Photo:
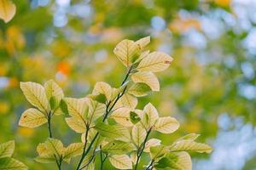
[[[83,143],[73,143],[69,144],[64,151],[64,160],[69,162],[70,158],[73,156],[80,156],[83,152],[84,144]]]

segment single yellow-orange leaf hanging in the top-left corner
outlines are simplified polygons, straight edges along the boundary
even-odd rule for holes
[[[5,23],[8,23],[15,16],[16,6],[10,0],[0,1],[0,19],[3,19]]]

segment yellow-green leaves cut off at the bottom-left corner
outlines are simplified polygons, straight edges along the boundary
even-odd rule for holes
[[[15,160],[11,156],[15,151],[15,141],[11,140],[0,144],[0,169],[26,170],[27,167],[22,162]]]

